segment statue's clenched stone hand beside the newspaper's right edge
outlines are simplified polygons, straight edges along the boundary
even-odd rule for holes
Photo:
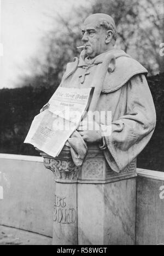
[[[102,142],[102,131],[95,121],[83,120],[80,123],[77,131],[80,133],[81,137],[83,137],[83,140],[86,142]]]

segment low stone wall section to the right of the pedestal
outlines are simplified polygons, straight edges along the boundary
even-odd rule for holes
[[[164,173],[137,171],[136,244],[164,244]]]

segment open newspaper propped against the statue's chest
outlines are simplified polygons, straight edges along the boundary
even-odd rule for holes
[[[48,108],[35,116],[24,143],[57,157],[77,129],[89,104],[92,88],[58,87]]]

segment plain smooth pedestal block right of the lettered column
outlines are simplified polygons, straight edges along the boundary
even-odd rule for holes
[[[78,184],[79,244],[134,244],[136,178]]]

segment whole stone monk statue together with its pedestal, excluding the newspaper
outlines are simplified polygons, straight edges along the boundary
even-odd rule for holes
[[[100,122],[96,115],[93,120],[84,117],[66,142],[72,158],[64,148],[54,159],[43,154],[56,181],[53,243],[134,244],[135,158],[156,121],[148,71],[115,48],[118,35],[111,16],[90,15],[82,33],[83,51],[67,64],[60,86],[95,87],[88,113],[105,115]],[[96,128],[88,129],[88,123]]]

